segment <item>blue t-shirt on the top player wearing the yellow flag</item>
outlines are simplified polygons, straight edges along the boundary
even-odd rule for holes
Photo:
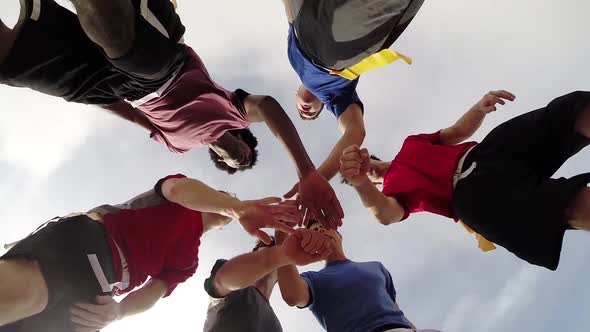
[[[343,77],[330,75],[313,63],[300,49],[293,24],[289,24],[288,50],[289,62],[301,83],[322,103],[336,118],[340,117],[351,104],[358,104],[361,109],[363,103],[356,93],[358,78],[350,81]]]

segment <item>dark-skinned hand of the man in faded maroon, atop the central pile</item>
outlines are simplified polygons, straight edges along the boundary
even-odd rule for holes
[[[314,217],[327,229],[336,229],[342,226],[344,211],[338,197],[328,181],[317,170],[299,181],[298,188],[297,186],[293,187],[284,197],[291,198],[297,193],[299,193],[297,202],[304,210],[304,218],[299,221],[298,225],[307,225],[309,219]]]

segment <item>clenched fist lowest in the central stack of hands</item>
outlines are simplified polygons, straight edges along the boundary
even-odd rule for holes
[[[284,254],[294,265],[307,265],[326,259],[333,251],[333,240],[326,234],[298,229],[281,245]]]

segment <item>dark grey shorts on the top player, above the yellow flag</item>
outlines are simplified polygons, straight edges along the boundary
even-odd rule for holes
[[[323,67],[342,70],[389,48],[425,0],[292,1],[299,46]]]

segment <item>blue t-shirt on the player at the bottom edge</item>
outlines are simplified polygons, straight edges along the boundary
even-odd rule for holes
[[[301,277],[311,292],[309,309],[328,332],[412,327],[395,302],[389,271],[379,262],[331,262]]]

